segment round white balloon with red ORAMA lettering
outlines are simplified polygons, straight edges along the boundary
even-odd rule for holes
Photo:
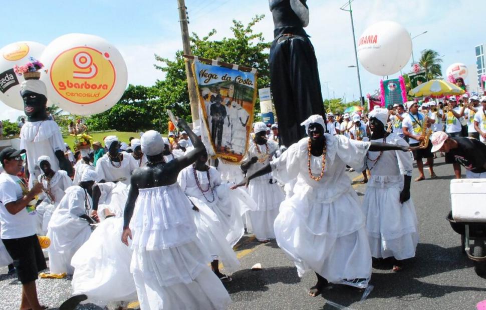
[[[410,33],[394,21],[372,24],[358,41],[362,66],[376,75],[390,75],[403,68],[412,53]]]

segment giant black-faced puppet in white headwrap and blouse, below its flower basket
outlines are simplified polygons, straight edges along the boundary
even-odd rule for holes
[[[53,171],[62,169],[72,175],[73,167],[64,156],[66,146],[61,130],[54,120],[48,119],[46,84],[39,79],[27,79],[21,85],[21,95],[24,99],[27,121],[20,131],[20,148],[27,150],[29,188],[42,173],[37,165],[37,159],[43,155],[53,158],[51,162]]]

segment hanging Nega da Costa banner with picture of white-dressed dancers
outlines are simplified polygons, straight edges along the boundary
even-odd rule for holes
[[[199,95],[201,127],[207,134],[203,141],[211,145],[210,155],[239,163],[248,149],[253,126],[257,71],[242,70],[232,64],[206,64],[200,59],[193,61],[192,70]]]

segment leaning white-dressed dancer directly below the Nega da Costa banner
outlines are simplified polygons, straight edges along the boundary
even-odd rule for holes
[[[207,246],[213,260],[213,272],[224,281],[231,278],[219,272],[219,259],[228,272],[239,266],[233,251],[233,245],[244,233],[243,221],[230,199],[220,200],[218,188],[222,191],[221,178],[216,168],[206,165],[207,153],[203,153],[196,162],[180,171],[177,181],[189,197],[199,214],[195,214],[197,236]],[[227,186],[226,186],[227,188]]]

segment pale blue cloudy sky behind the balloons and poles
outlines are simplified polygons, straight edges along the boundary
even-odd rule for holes
[[[173,58],[182,48],[176,0],[84,0],[33,1],[2,3],[0,47],[19,40],[33,40],[47,45],[54,38],[71,32],[104,37],[123,54],[128,67],[128,82],[151,85],[162,79],[162,72],[153,68],[153,54]],[[359,96],[354,65],[354,50],[349,13],[339,7],[345,0],[308,0],[310,23],[306,31],[316,50],[324,98]],[[217,30],[216,38],[230,35],[231,19],[245,23],[256,14],[265,14],[256,30],[273,39],[273,21],[267,0],[186,0],[189,9],[189,30],[205,35]],[[420,50],[432,48],[443,59],[443,70],[454,62],[468,65],[475,71],[474,46],[485,43],[484,0],[355,0],[353,16],[356,37],[374,22],[394,20],[412,36],[415,58]],[[28,18],[23,16],[29,14]],[[242,63],[244,65],[244,63]],[[410,67],[408,64],[406,67]],[[363,95],[379,88],[381,76],[360,67]],[[396,77],[396,74],[391,77]],[[467,80],[466,80],[467,83]],[[469,83],[475,83],[470,80]],[[0,103],[1,119],[22,114]]]

